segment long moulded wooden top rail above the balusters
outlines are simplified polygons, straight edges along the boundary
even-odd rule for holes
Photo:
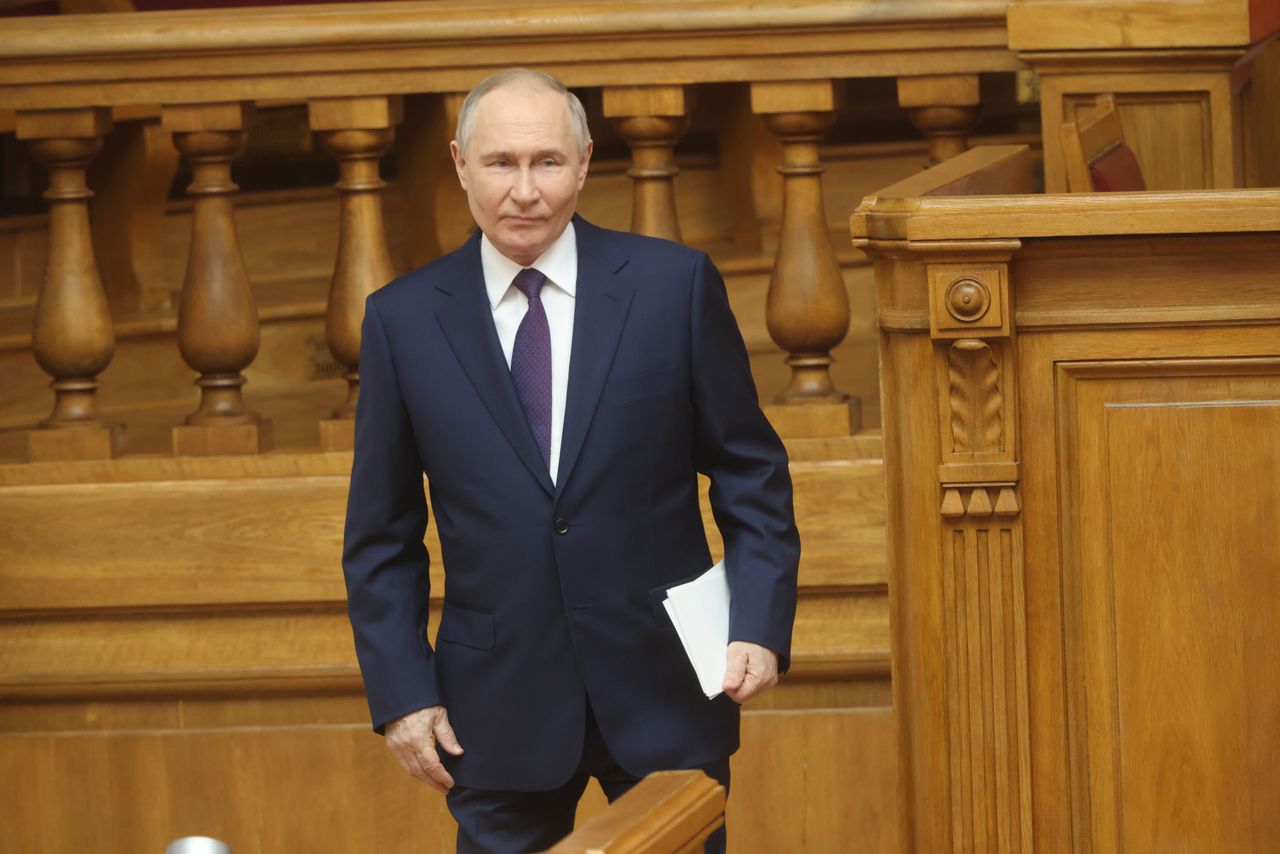
[[[0,110],[460,92],[513,61],[570,86],[1021,68],[1004,3],[376,3],[0,20]]]

